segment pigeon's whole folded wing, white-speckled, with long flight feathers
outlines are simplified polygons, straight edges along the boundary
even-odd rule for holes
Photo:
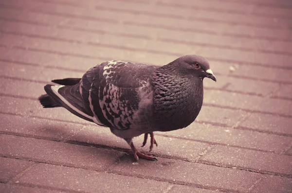
[[[57,104],[78,117],[123,130],[129,128],[139,107],[140,90],[147,86],[149,75],[155,68],[146,64],[110,61],[88,70],[75,85],[70,79],[72,86],[46,85],[45,90]],[[64,80],[68,82],[68,79]]]

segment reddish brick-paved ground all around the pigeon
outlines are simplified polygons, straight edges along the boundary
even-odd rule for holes
[[[102,61],[190,53],[218,82],[197,121],[156,133],[158,161],[37,102]],[[0,0],[0,192],[292,193],[291,74],[291,0]]]

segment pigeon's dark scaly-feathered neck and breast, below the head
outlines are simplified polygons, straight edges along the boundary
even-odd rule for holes
[[[195,121],[203,102],[199,77],[166,65],[155,71],[152,86],[154,115],[161,131],[183,128]]]

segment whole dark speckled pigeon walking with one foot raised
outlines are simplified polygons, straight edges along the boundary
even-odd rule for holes
[[[74,115],[109,127],[127,141],[130,154],[157,160],[153,132],[182,129],[195,121],[203,103],[203,79],[216,77],[206,58],[184,55],[164,66],[112,60],[89,69],[82,78],[52,80],[38,99],[44,108],[64,107]],[[150,136],[150,151],[138,151],[132,139]]]

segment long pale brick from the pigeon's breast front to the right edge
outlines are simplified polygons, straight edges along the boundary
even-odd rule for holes
[[[292,116],[292,101],[230,93],[221,90],[205,90],[204,103],[236,107],[249,111]]]

